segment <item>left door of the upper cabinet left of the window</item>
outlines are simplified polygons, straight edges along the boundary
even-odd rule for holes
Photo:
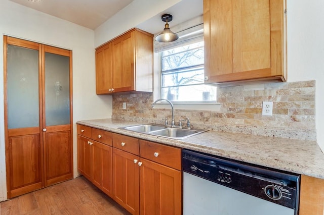
[[[111,93],[112,88],[111,43],[96,50],[96,92]]]

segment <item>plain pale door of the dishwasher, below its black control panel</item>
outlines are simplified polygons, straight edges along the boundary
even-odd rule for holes
[[[294,215],[295,210],[183,172],[184,215]]]

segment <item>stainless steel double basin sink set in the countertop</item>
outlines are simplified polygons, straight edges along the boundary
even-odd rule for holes
[[[208,131],[201,129],[169,128],[164,125],[158,124],[126,126],[119,129],[134,131],[143,134],[150,134],[154,136],[167,137],[171,139],[184,139]]]

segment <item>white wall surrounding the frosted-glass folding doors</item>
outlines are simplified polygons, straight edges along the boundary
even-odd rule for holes
[[[110,118],[111,96],[96,95],[94,31],[0,0],[0,68],[3,71],[2,35],[19,37],[72,50],[73,60],[73,162],[76,170],[77,120]],[[3,74],[3,72],[1,72]],[[0,83],[4,83],[0,75]],[[0,201],[7,199],[4,139],[4,89],[0,87]]]

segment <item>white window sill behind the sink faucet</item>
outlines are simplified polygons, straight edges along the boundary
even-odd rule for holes
[[[180,110],[219,111],[221,107],[221,104],[216,101],[211,101],[211,102],[175,101],[172,103],[175,109],[180,109]],[[154,105],[154,108],[171,109],[171,105],[165,101],[158,101]]]

